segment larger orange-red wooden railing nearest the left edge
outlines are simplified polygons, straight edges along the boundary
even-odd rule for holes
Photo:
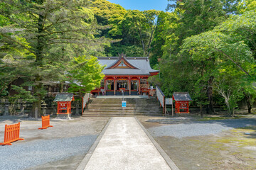
[[[11,142],[15,142],[17,140],[24,140],[19,138],[19,132],[20,123],[14,125],[5,125],[4,143],[0,143],[0,145],[12,145]]]

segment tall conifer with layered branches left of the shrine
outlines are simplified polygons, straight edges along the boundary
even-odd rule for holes
[[[19,45],[33,54],[30,58],[31,80],[37,100],[33,102],[33,108],[38,107],[41,111],[41,100],[45,96],[43,84],[61,80],[72,57],[86,53],[96,55],[108,41],[94,36],[102,27],[97,26],[88,8],[90,1],[3,2],[1,15],[13,24],[2,26],[0,35],[10,44]]]

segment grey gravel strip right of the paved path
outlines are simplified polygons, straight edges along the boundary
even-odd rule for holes
[[[241,128],[250,125],[256,125],[255,118],[242,118],[233,120],[209,120],[209,121],[187,121],[180,123],[180,120],[175,118],[164,120],[148,120],[147,122],[156,123],[157,121],[165,125],[149,128],[149,132],[155,137],[173,136],[173,137],[193,137],[201,135],[215,135],[224,130],[233,128]],[[171,124],[171,125],[166,125]]]

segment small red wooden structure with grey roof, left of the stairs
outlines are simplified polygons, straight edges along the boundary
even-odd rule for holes
[[[58,115],[71,115],[71,101],[74,101],[74,95],[71,93],[60,93],[55,96],[53,102],[58,103]]]

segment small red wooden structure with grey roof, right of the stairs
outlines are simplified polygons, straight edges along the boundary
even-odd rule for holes
[[[189,113],[188,103],[192,99],[188,92],[174,92],[173,100],[175,101],[175,113]]]

